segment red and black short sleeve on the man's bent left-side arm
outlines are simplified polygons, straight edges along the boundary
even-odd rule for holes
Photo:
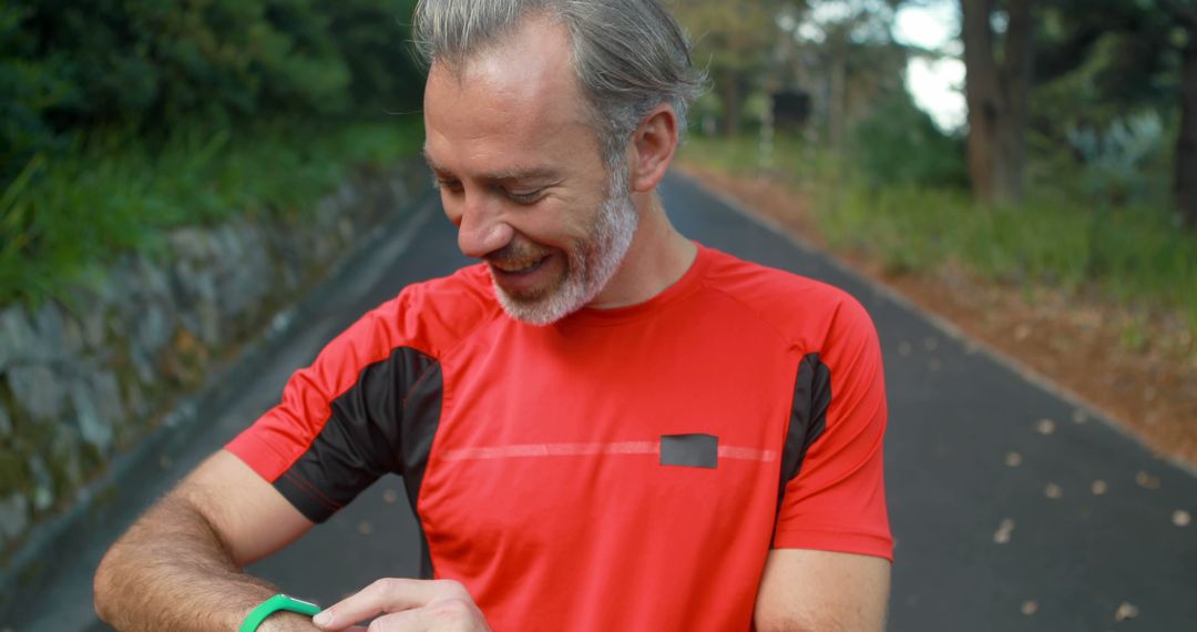
[[[408,311],[400,294],[363,316],[226,445],[314,522],[400,468],[402,402],[436,364],[402,326]]]

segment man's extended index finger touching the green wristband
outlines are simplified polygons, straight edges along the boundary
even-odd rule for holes
[[[369,587],[326,608],[312,618],[324,630],[344,630],[377,616],[419,608],[437,600],[469,598],[457,582],[427,579],[378,579]]]

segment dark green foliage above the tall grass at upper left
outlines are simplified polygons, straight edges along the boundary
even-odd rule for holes
[[[0,183],[97,130],[168,139],[414,109],[402,0],[8,0]]]

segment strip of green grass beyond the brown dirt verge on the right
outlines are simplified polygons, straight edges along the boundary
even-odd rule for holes
[[[810,193],[810,215],[833,249],[862,250],[891,272],[961,265],[998,282],[1095,291],[1148,310],[1179,312],[1197,338],[1197,233],[1150,206],[1110,206],[1067,188],[1020,205],[974,207],[965,190],[869,187],[850,166],[778,144],[777,174]],[[693,138],[682,159],[759,172],[754,139]]]

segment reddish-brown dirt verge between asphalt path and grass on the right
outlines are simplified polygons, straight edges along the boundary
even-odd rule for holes
[[[679,170],[830,250],[796,187],[691,164]],[[1178,318],[1051,288],[1001,285],[962,269],[895,275],[868,253],[836,251],[836,256],[1046,376],[1157,454],[1197,468],[1197,353]]]

